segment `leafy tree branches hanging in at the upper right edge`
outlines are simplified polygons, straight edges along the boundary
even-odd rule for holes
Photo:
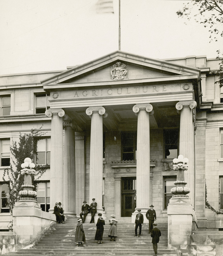
[[[210,42],[212,40],[218,41],[218,37],[223,36],[223,1],[200,1],[195,0],[184,4],[182,10],[177,12],[179,17],[186,17],[190,20],[194,17],[196,22],[203,24],[205,28],[209,29]],[[223,55],[220,50],[217,51],[216,59],[220,60],[219,69],[213,74],[219,77],[215,84],[223,86]]]

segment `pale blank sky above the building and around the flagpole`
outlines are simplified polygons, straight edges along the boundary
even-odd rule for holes
[[[65,70],[117,51],[118,0],[114,13],[97,13],[97,1],[0,0],[0,75]],[[187,2],[121,0],[121,51],[215,58],[223,39],[210,43],[207,28],[177,16]]]

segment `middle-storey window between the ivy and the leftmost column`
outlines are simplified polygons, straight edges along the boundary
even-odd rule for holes
[[[36,151],[36,164],[50,164],[51,138],[38,140]]]

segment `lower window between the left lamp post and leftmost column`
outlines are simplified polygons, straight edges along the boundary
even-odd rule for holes
[[[50,182],[36,183],[37,203],[40,204],[42,211],[49,212],[50,209]]]

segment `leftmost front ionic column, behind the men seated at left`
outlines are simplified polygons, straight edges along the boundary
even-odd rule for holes
[[[63,201],[63,109],[48,109],[45,112],[51,121],[51,156],[50,156],[50,210],[55,202]]]

